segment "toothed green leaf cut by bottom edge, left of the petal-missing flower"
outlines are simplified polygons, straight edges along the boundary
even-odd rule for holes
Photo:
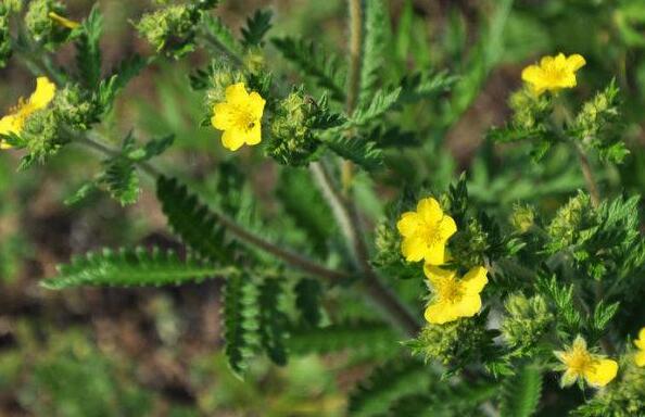
[[[542,394],[542,372],[535,365],[524,366],[502,382],[501,417],[530,417],[538,409]]]

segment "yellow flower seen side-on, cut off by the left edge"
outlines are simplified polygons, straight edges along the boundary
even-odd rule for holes
[[[21,98],[16,106],[11,109],[11,114],[0,118],[0,135],[18,135],[25,126],[25,121],[31,113],[47,108],[53,100],[56,86],[47,77],[36,79],[36,91],[28,100]],[[0,149],[11,148],[8,143],[0,141]]]

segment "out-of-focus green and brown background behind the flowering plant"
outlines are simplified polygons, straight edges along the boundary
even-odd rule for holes
[[[68,1],[71,17],[83,18],[92,3]],[[556,150],[545,164],[526,166],[521,147],[493,149],[482,142],[485,130],[508,115],[506,99],[520,86],[521,68],[560,51],[587,60],[576,97],[587,98],[616,77],[632,155],[602,180],[609,190],[619,184],[629,191],[643,190],[642,0],[389,3],[395,41],[387,71],[434,67],[460,79],[451,94],[404,112],[402,124],[422,136],[420,165],[410,172],[404,166],[405,152],[389,154],[392,175],[378,198],[423,181],[441,189],[463,169],[470,172],[471,193],[483,204],[502,201],[510,207],[515,201],[546,194],[556,204],[581,187],[582,177],[566,152]],[[106,67],[134,51],[149,52],[131,22],[153,3],[99,4],[105,16]],[[257,8],[275,12],[269,36],[299,35],[343,53],[343,1],[224,1],[217,14],[238,30]],[[270,47],[267,51],[269,66],[288,74],[277,52]],[[72,48],[56,59],[65,65],[73,59]],[[252,152],[225,152],[213,130],[199,127],[202,98],[189,89],[187,74],[206,61],[198,52],[146,70],[121,94],[100,129],[115,138],[130,129],[139,137],[176,134],[175,148],[159,166],[197,179],[206,198],[213,198],[213,166],[240,160],[260,198],[269,202],[275,167]],[[15,59],[0,74],[0,109],[5,110],[29,93],[33,76]],[[238,380],[219,352],[217,280],[181,288],[63,292],[38,286],[73,254],[101,247],[177,245],[168,238],[151,184],[132,206],[122,207],[102,195],[65,206],[65,198],[96,172],[99,162],[87,155],[85,149],[66,147],[47,166],[16,173],[20,155],[0,153],[0,416],[344,415],[347,391],[371,363],[343,352],[303,356],[283,368],[258,359],[246,381]],[[265,212],[270,216],[270,204]]]

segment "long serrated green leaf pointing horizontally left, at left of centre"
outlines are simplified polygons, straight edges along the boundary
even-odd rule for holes
[[[103,249],[100,253],[74,257],[56,270],[55,277],[41,281],[45,288],[178,286],[231,273],[191,257],[180,260],[175,252],[159,248]]]

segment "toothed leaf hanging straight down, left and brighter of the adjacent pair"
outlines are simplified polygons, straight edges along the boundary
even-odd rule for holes
[[[260,343],[257,288],[248,274],[226,280],[223,304],[225,353],[231,370],[241,377]]]

